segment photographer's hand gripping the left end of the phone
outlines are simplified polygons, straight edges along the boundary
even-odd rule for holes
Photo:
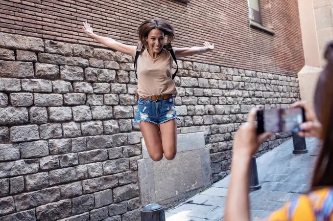
[[[272,133],[257,134],[257,128],[254,124],[257,111],[257,109],[251,110],[247,115],[247,122],[238,129],[234,138],[234,155],[251,157],[256,154],[260,144],[272,135]]]

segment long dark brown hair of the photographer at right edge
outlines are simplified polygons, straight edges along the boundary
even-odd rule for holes
[[[332,43],[325,51],[327,65],[321,73],[322,80],[317,86],[320,97],[315,100],[319,106],[318,118],[322,124],[323,143],[317,158],[312,177],[311,190],[321,187],[333,187],[333,50]]]

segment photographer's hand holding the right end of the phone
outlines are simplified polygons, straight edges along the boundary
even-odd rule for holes
[[[322,138],[322,125],[319,122],[314,110],[304,101],[299,101],[291,105],[291,108],[304,108],[306,122],[301,124],[302,131],[297,134],[302,137]]]

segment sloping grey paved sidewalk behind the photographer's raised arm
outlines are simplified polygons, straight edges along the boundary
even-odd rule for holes
[[[252,220],[267,217],[286,201],[307,190],[318,152],[317,145],[317,140],[307,139],[309,153],[293,155],[293,143],[289,139],[257,158],[262,189],[250,193]],[[225,177],[209,189],[166,211],[166,221],[221,221],[229,178]]]

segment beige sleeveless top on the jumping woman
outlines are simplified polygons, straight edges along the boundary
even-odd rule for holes
[[[149,95],[172,94],[177,95],[174,81],[172,80],[172,57],[169,51],[162,52],[153,58],[145,49],[137,61],[138,94],[146,98]]]

